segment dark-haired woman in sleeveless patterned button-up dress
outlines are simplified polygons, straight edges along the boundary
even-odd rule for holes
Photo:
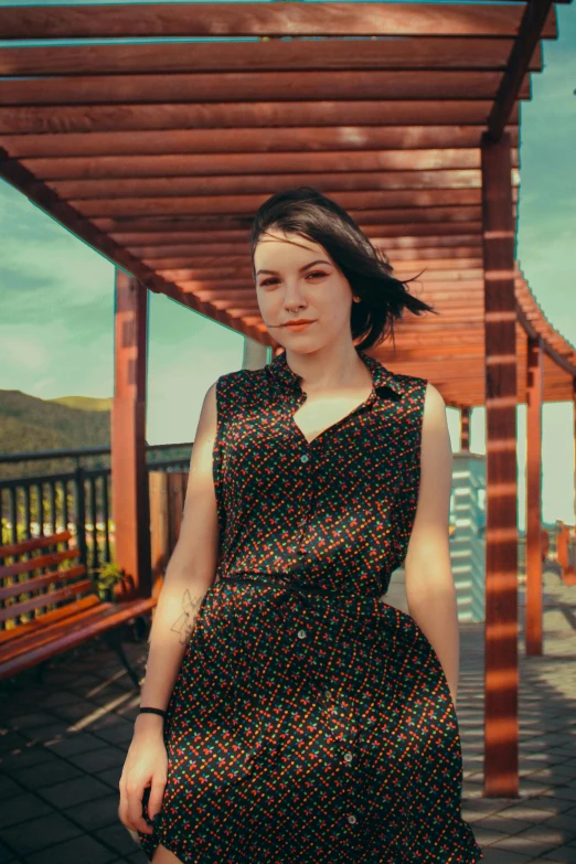
[[[365,352],[434,310],[308,186],[252,263],[285,352],[206,393],[120,820],[154,864],[472,864],[445,404]]]

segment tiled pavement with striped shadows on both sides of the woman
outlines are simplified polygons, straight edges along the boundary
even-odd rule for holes
[[[545,602],[544,655],[520,642],[519,798],[482,798],[483,625],[460,625],[462,813],[483,864],[576,864],[576,587],[548,576]],[[146,643],[127,650],[143,674]],[[116,655],[93,641],[43,685],[33,672],[0,682],[0,864],[145,864],[117,817],[138,694]]]

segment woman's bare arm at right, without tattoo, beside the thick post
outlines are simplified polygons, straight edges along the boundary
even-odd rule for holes
[[[452,449],[442,396],[429,382],[424,403],[420,484],[405,561],[406,599],[416,623],[431,642],[456,705],[459,632],[450,568],[449,513]]]

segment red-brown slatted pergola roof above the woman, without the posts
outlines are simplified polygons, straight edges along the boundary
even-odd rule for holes
[[[374,353],[480,405],[481,137],[510,135],[515,202],[519,100],[555,36],[547,0],[3,7],[0,174],[151,290],[273,345],[248,231],[270,194],[312,185],[401,278],[424,269],[410,290],[441,312]],[[576,351],[520,268],[516,297],[519,401],[527,333],[545,398],[572,398]]]

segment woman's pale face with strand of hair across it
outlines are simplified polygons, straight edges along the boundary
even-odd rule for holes
[[[351,338],[352,290],[322,246],[270,231],[258,241],[254,270],[264,323],[284,348],[309,353]],[[301,329],[285,326],[299,318],[313,323]]]

